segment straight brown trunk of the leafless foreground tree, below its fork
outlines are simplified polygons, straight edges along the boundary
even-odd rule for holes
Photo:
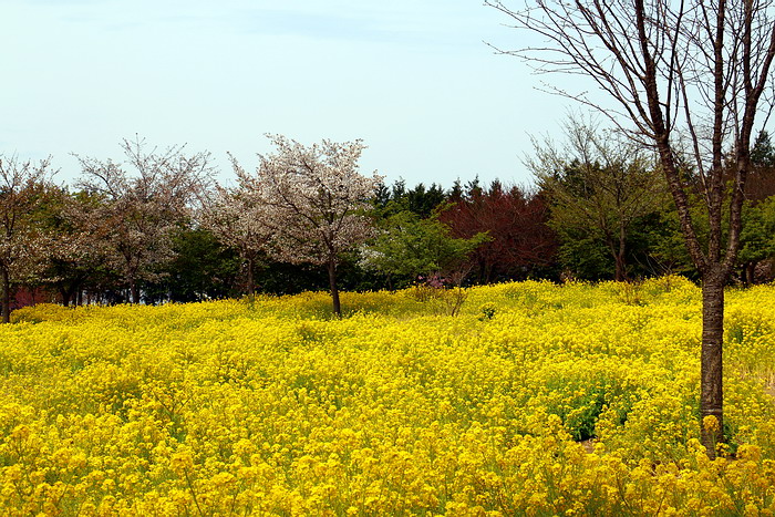
[[[703,276],[700,413],[702,444],[711,458],[715,457],[715,445],[724,440],[722,389],[724,283],[723,275],[716,271],[709,271]]]

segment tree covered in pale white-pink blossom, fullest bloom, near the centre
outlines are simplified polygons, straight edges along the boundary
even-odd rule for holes
[[[359,173],[358,159],[365,148],[360,139],[304,146],[280,135],[269,138],[277,151],[259,155],[255,176],[236,161],[235,170],[256,206],[262,207],[271,232],[270,255],[291,263],[326,266],[333,312],[340,316],[337,267],[372,232],[366,200],[381,177]]]

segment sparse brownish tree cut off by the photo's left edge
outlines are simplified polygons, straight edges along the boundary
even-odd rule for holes
[[[34,164],[0,155],[0,287],[2,322],[11,317],[11,285],[34,275],[49,236],[38,216],[51,187],[50,159]]]

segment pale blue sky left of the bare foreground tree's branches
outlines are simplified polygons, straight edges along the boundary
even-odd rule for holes
[[[389,184],[526,185],[530,135],[568,111],[493,50],[527,34],[480,0],[0,0],[0,154],[52,155],[60,183],[138,135],[228,184],[227,153],[255,168],[272,133],[362,138]]]

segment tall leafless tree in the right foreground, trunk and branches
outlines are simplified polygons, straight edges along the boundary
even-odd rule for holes
[[[524,9],[485,0],[545,44],[507,53],[539,71],[590,77],[613,101],[559,93],[600,108],[653,147],[675,201],[686,248],[702,276],[702,441],[711,457],[723,433],[724,286],[740,248],[741,211],[756,118],[773,107],[773,0],[537,0]],[[725,149],[732,149],[725,155]],[[689,182],[681,156],[690,156]],[[733,170],[731,188],[725,168]],[[704,199],[707,242],[692,218],[689,192]],[[722,231],[728,204],[728,234]]]

